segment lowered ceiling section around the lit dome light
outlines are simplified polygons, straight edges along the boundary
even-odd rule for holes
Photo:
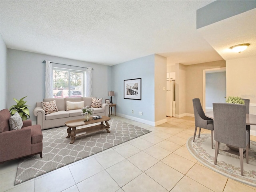
[[[198,32],[224,60],[256,56],[256,8],[200,28]],[[244,43],[250,45],[241,53],[230,49]]]

